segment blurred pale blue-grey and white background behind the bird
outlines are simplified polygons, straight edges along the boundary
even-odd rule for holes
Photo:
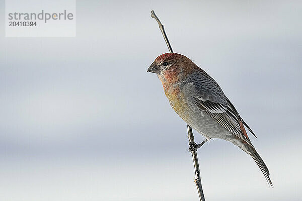
[[[212,140],[206,199],[301,199],[301,1],[77,1],[74,38],[6,38],[0,20],[0,200],[198,200],[186,124],[146,72],[168,52],[152,9],[252,127],[275,186]]]

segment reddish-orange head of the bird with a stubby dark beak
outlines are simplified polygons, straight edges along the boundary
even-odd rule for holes
[[[194,66],[195,64],[184,55],[165,53],[155,59],[147,72],[156,73],[160,78],[174,79],[180,74],[189,72]]]

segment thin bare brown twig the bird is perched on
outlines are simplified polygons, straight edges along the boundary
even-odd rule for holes
[[[166,41],[166,44],[168,46],[168,49],[170,52],[173,52],[171,44],[168,40],[167,34],[165,32],[164,29],[164,25],[161,23],[160,19],[156,16],[155,12],[152,10],[151,11],[151,17],[153,17],[154,19],[156,19],[156,21],[158,22],[159,26],[160,26],[160,30],[164,36],[164,39]],[[196,145],[196,143],[194,142],[194,136],[193,136],[193,132],[192,132],[192,128],[191,126],[187,125],[188,127],[188,138],[189,138],[189,145],[191,147],[191,145]],[[202,144],[204,144],[206,142],[206,140],[200,144],[200,146]],[[202,186],[201,186],[201,178],[200,178],[200,170],[199,170],[199,163],[198,163],[198,158],[197,158],[197,149],[192,149],[191,150],[192,153],[192,157],[193,157],[193,162],[194,162],[194,167],[195,167],[195,183],[197,186],[197,190],[198,190],[198,194],[199,194],[199,199],[200,201],[205,201],[204,195],[203,195],[203,190],[202,190]]]

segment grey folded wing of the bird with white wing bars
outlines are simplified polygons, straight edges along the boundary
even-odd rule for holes
[[[213,78],[199,69],[191,73],[186,85],[198,108],[251,145],[241,117]]]

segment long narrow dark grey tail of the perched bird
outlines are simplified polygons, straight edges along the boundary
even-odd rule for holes
[[[260,157],[260,155],[257,153],[256,149],[254,147],[252,147],[251,145],[245,143],[244,151],[247,152],[250,156],[252,156],[252,158],[254,159],[254,161],[257,163],[260,170],[264,174],[268,184],[273,187],[273,183],[272,183],[271,179],[269,178],[269,170],[268,170],[267,166],[265,165],[264,161],[262,160],[262,158]]]

